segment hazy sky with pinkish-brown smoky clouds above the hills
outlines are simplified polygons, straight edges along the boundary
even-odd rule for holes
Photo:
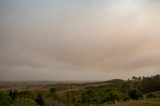
[[[0,80],[156,74],[159,0],[0,0]]]

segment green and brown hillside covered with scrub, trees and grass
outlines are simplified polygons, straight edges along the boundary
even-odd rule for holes
[[[160,106],[160,75],[91,83],[1,87],[0,106]]]

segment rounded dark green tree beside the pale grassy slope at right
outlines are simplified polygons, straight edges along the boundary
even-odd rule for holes
[[[136,89],[136,88],[132,89],[129,92],[129,96],[130,96],[130,98],[132,98],[134,100],[138,100],[138,99],[142,98],[141,92],[138,89]]]

